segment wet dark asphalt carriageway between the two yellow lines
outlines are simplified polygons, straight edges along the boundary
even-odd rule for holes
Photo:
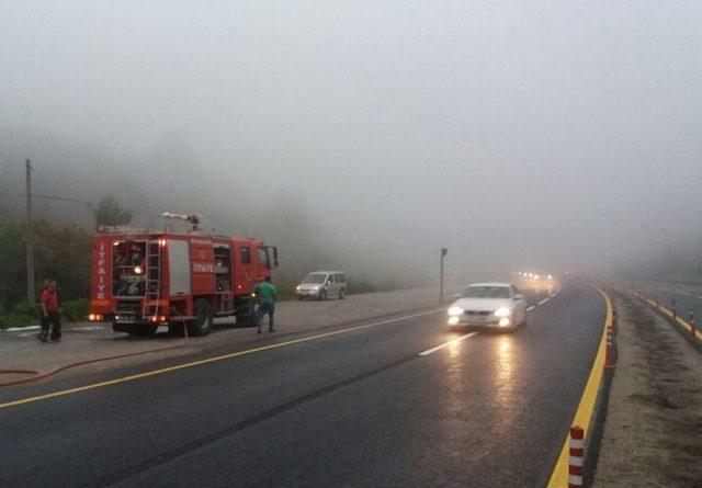
[[[543,485],[604,313],[569,284],[514,333],[433,311],[0,408],[0,486]]]

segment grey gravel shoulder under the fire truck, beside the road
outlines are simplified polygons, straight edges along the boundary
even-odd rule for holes
[[[435,288],[351,295],[343,300],[282,302],[278,304],[275,310],[275,334],[283,336],[341,326],[430,306],[439,306]],[[45,372],[69,363],[182,344],[169,351],[79,366],[57,375],[65,377],[78,371],[82,373],[107,371],[155,359],[202,353],[210,349],[220,350],[229,347],[234,349],[268,337],[265,332],[262,336],[257,334],[256,329],[251,327],[237,327],[234,318],[215,320],[215,328],[210,336],[191,338],[186,342],[183,339],[171,338],[166,332],[147,338],[129,337],[113,332],[111,325],[89,322],[64,327],[60,343],[42,343],[36,336],[36,330],[0,332],[0,370]],[[18,376],[0,374],[0,381],[10,377]],[[50,378],[43,379],[43,382],[46,381]]]

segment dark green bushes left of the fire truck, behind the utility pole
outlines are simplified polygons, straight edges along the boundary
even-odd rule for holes
[[[38,295],[45,277],[54,277],[61,300],[86,297],[90,291],[90,235],[82,228],[34,223],[34,271]],[[14,309],[26,299],[26,226],[0,224],[0,304]]]

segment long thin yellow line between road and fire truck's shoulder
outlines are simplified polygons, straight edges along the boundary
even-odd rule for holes
[[[19,400],[8,401],[7,404],[0,404],[0,409],[9,408],[9,407],[16,407],[19,405],[24,405],[24,404],[32,404],[34,401],[48,400],[49,398],[63,397],[63,396],[66,396],[66,395],[72,395],[72,394],[80,393],[80,391],[87,391],[89,389],[95,389],[95,388],[102,388],[102,387],[105,387],[105,386],[117,385],[120,383],[132,382],[134,379],[147,378],[149,376],[156,376],[156,375],[160,375],[160,374],[165,374],[165,373],[170,373],[172,371],[184,370],[186,367],[194,367],[194,366],[201,366],[203,364],[216,363],[218,361],[230,360],[230,359],[234,359],[234,358],[239,358],[239,356],[242,356],[242,355],[253,354],[253,353],[261,352],[261,351],[268,351],[268,350],[271,350],[271,349],[284,348],[286,345],[298,344],[301,342],[308,342],[308,341],[314,341],[314,340],[317,340],[317,339],[322,339],[322,338],[327,338],[327,337],[331,337],[331,336],[339,336],[341,333],[348,333],[348,332],[354,332],[356,330],[370,329],[371,327],[385,326],[385,325],[388,325],[388,324],[399,322],[401,320],[407,320],[407,319],[415,318],[415,317],[422,317],[422,316],[426,316],[426,315],[435,314],[437,311],[441,311],[442,309],[443,308],[439,308],[439,309],[434,309],[434,310],[430,310],[430,311],[422,311],[422,313],[419,313],[419,314],[406,315],[404,317],[397,317],[397,318],[381,320],[381,321],[377,321],[377,322],[366,324],[364,326],[356,326],[356,327],[351,327],[349,329],[341,329],[341,330],[335,330],[332,332],[318,333],[316,336],[304,337],[304,338],[301,338],[301,339],[293,339],[293,340],[290,340],[290,341],[279,342],[279,343],[275,343],[275,344],[269,344],[269,345],[262,345],[260,348],[248,349],[246,351],[238,351],[238,352],[233,352],[233,353],[229,353],[229,354],[223,354],[223,355],[218,355],[218,356],[207,358],[207,359],[200,360],[200,361],[193,361],[193,362],[190,362],[190,363],[178,364],[176,366],[163,367],[161,370],[154,370],[154,371],[148,371],[146,373],[139,373],[139,374],[133,374],[133,375],[129,375],[129,376],[123,376],[123,377],[115,378],[115,379],[109,379],[106,382],[93,383],[91,385],[79,386],[79,387],[70,388],[70,389],[63,389],[63,390],[53,391],[53,393],[45,394],[45,395],[37,395],[37,396],[34,396],[34,397],[21,398]]]

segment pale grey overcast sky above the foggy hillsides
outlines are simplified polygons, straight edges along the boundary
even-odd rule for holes
[[[408,263],[448,246],[474,266],[609,266],[702,237],[702,2],[0,12],[5,141],[95,148],[170,182],[192,172],[216,205],[284,189],[351,250],[385,242]],[[174,152],[185,162],[169,166]],[[0,164],[7,183],[18,161]]]

